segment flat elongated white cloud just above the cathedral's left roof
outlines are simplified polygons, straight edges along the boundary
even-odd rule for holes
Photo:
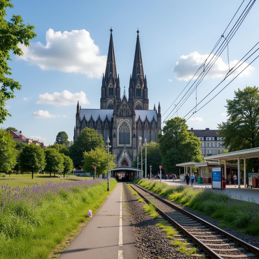
[[[70,104],[77,104],[77,101],[79,101],[80,104],[90,104],[90,102],[86,98],[86,94],[83,91],[79,93],[70,93],[67,90],[64,90],[61,93],[54,92],[52,94],[44,93],[42,95],[39,95],[38,101],[36,103],[66,106]]]

